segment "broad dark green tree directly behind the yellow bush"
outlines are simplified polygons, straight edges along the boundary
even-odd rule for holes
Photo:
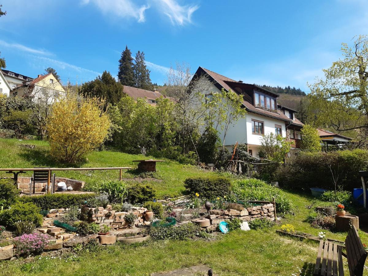
[[[102,76],[98,76],[94,81],[85,82],[79,88],[79,93],[84,97],[97,97],[106,100],[108,104],[116,105],[124,96],[124,86],[116,82],[110,72],[104,71]],[[105,106],[105,109],[106,109]]]

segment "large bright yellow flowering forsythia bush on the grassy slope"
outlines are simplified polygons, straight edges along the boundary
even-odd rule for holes
[[[99,146],[110,127],[109,117],[101,106],[97,98],[79,100],[76,96],[54,103],[47,121],[51,155],[73,163]]]

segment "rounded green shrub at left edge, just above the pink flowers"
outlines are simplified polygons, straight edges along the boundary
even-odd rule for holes
[[[38,206],[31,202],[17,202],[0,213],[0,224],[14,228],[15,223],[21,220],[23,222],[33,222],[36,227],[39,227],[42,224],[40,210]]]

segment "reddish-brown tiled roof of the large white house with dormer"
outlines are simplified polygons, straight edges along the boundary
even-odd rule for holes
[[[225,77],[223,75],[217,74],[217,73],[215,73],[213,71],[210,71],[208,69],[205,69],[203,67],[200,67],[200,68],[202,68],[202,70],[204,70],[210,77],[212,77],[216,82],[218,82],[227,91],[229,91],[230,89],[232,91],[235,91],[235,89],[231,88],[231,86],[229,86],[229,84],[227,84],[226,82],[236,82],[236,83],[239,83],[239,84],[243,84],[242,82],[234,81],[233,79],[230,79],[230,78]],[[257,87],[259,87],[259,86],[257,86]],[[247,102],[245,100],[243,101],[243,105],[247,108],[247,110],[249,112],[261,114],[261,115],[264,115],[264,116],[280,119],[280,120],[287,121],[287,122],[291,121],[294,125],[298,125],[300,127],[302,127],[304,125],[297,118],[295,118],[294,120],[291,120],[284,113],[272,112],[272,111],[262,109],[261,107],[255,107],[250,102]],[[285,107],[285,108],[288,109],[287,107]]]

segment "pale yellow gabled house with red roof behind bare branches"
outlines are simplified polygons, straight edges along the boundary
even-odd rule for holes
[[[47,103],[52,103],[61,95],[66,95],[66,91],[55,76],[50,73],[46,75],[38,75],[31,81],[24,81],[13,89],[12,96],[31,97],[35,99],[43,99]]]

